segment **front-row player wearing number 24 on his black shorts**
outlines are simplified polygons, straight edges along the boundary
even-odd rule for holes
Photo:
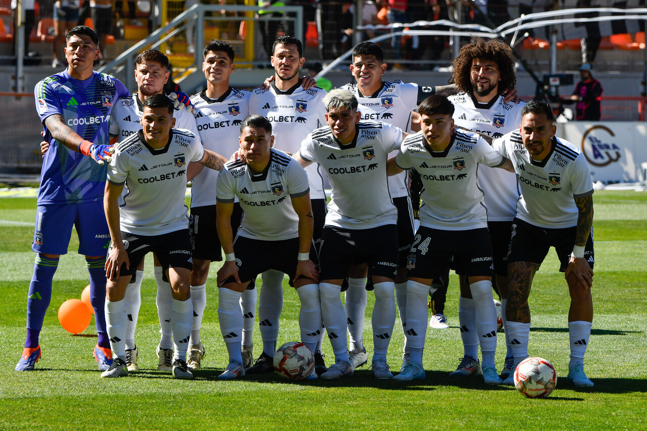
[[[427,295],[433,279],[444,272],[454,256],[470,280],[483,352],[483,381],[501,383],[494,367],[496,311],[492,302],[492,244],[487,231],[487,209],[477,184],[479,165],[512,165],[483,138],[454,128],[454,105],[435,94],[418,107],[422,130],[407,136],[400,152],[391,158],[388,172],[419,172],[424,185],[420,227],[407,261],[407,338],[410,362],[394,377],[399,381],[423,379],[422,350],[427,329]],[[460,198],[457,198],[460,196]]]

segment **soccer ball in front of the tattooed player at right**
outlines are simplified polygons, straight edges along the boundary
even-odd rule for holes
[[[526,397],[547,397],[556,385],[555,369],[543,358],[527,358],[514,370],[514,386]]]

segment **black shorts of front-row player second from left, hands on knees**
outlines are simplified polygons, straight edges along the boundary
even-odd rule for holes
[[[264,273],[269,269],[276,269],[276,271],[287,274],[290,278],[290,286],[294,286],[292,279],[296,274],[299,238],[266,241],[237,235],[234,238],[234,254],[236,254],[238,278],[241,282],[254,280],[260,273]],[[310,248],[310,260],[317,264],[314,244]],[[307,277],[301,276],[300,278]],[[229,277],[223,284],[231,282],[236,282],[236,279]]]

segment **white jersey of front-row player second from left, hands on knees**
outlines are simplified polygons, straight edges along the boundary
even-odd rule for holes
[[[225,163],[216,185],[218,202],[230,204],[238,196],[244,211],[236,235],[258,240],[286,240],[299,236],[299,217],[292,198],[309,191],[308,178],[296,160],[272,149],[262,174],[252,174],[247,163]]]

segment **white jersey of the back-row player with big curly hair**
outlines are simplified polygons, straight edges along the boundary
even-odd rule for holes
[[[499,95],[489,103],[479,103],[472,94],[450,96],[454,103],[454,124],[501,138],[504,134],[519,130],[521,108],[525,103],[505,103]],[[521,194],[516,177],[505,169],[483,166],[479,170],[479,185],[485,193],[487,218],[490,222],[509,222],[514,218],[517,200]]]

